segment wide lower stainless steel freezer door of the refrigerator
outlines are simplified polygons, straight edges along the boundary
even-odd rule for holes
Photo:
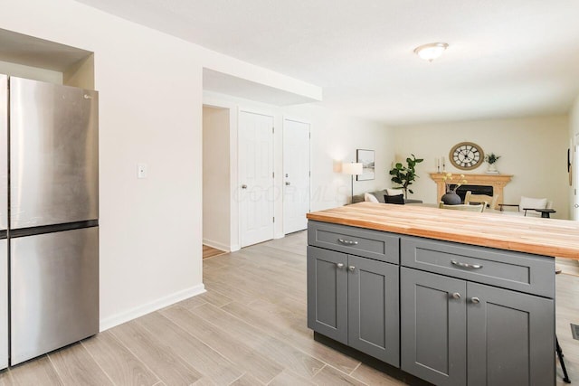
[[[11,365],[99,332],[99,228],[10,240]]]

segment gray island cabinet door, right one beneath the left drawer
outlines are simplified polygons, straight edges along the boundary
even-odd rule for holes
[[[348,345],[400,365],[398,266],[348,256]]]

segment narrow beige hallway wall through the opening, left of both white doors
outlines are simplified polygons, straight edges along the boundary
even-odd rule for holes
[[[229,108],[203,108],[203,242],[229,250]]]

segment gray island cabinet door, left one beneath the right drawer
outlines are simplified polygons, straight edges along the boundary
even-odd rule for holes
[[[466,384],[467,283],[400,268],[400,284],[403,371],[436,385]]]

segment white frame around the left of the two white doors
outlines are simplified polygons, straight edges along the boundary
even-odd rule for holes
[[[261,116],[265,116],[265,117],[270,117],[271,122],[273,124],[273,127],[275,127],[275,125],[276,125],[276,114],[269,111],[269,110],[261,109],[261,108],[243,108],[241,106],[237,106],[237,115],[235,117],[236,118],[236,122],[235,122],[235,124],[236,124],[236,126],[235,126],[235,134],[236,134],[235,147],[236,147],[236,151],[237,151],[237,154],[235,156],[235,164],[236,164],[235,177],[236,177],[236,179],[235,179],[235,184],[232,185],[232,189],[234,189],[234,192],[235,192],[234,197],[235,197],[235,200],[237,202],[237,221],[236,222],[237,222],[237,231],[238,231],[237,240],[238,240],[239,249],[242,248],[242,205],[241,205],[241,202],[242,202],[242,189],[241,189],[242,181],[241,181],[241,177],[240,177],[240,175],[241,175],[241,173],[240,173],[241,172],[241,170],[240,170],[241,169],[241,167],[240,167],[241,163],[240,163],[240,140],[239,140],[239,138],[240,138],[240,135],[239,135],[240,120],[241,120],[242,113],[249,113],[249,114],[256,114],[256,115],[261,115]],[[275,190],[275,187],[276,187],[276,184],[275,184],[276,183],[276,178],[275,178],[275,170],[276,170],[275,142],[276,141],[275,141],[275,135],[274,134],[275,134],[274,132],[271,133],[271,170],[274,173],[274,178],[271,181],[271,186]],[[275,219],[275,202],[277,200],[275,200],[275,194],[274,193],[272,193],[272,194],[273,194],[273,197],[271,197],[272,198],[272,200],[271,200],[271,213],[273,214],[274,219]],[[271,240],[273,240],[273,239],[275,239],[275,221],[272,222],[271,228],[272,228]],[[236,249],[236,250],[239,250],[239,249]]]

